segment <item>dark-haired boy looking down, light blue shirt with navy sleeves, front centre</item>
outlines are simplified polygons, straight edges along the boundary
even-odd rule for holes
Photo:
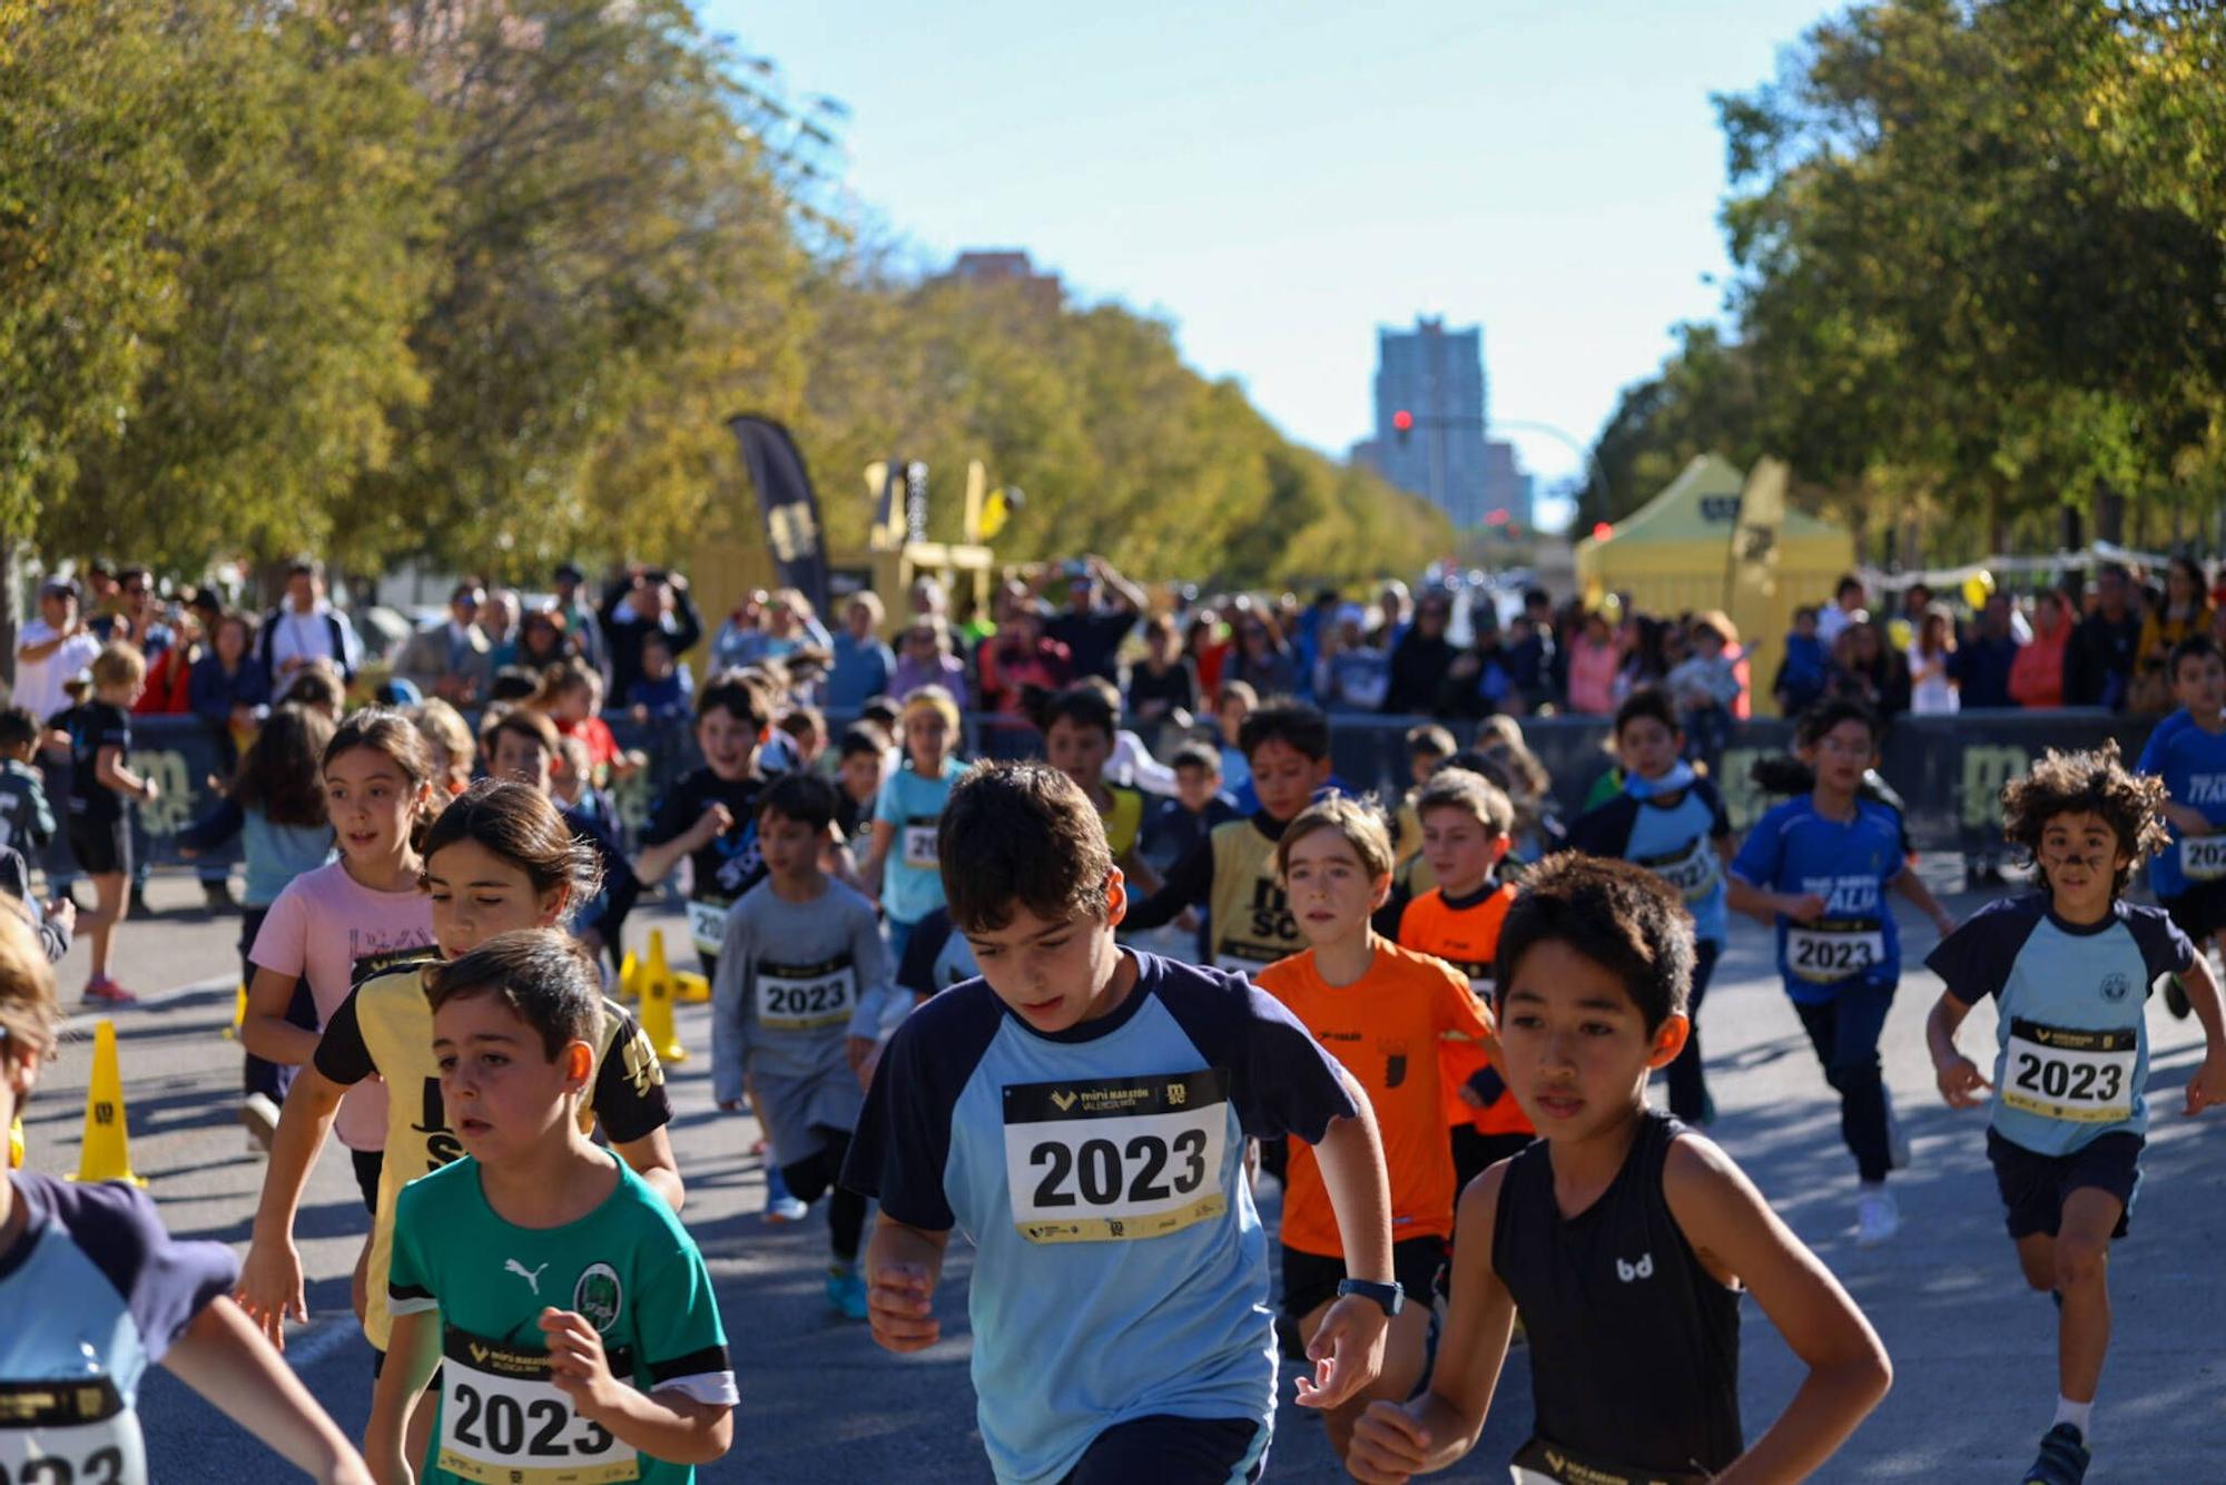
[[[1398,1309],[1385,1158],[1358,1084],[1238,975],[1113,942],[1097,810],[1042,764],[953,788],[937,859],[982,962],[915,1011],[844,1182],[881,1200],[875,1340],[935,1345],[951,1229],[973,1238],[973,1380],[999,1481],[1251,1481],[1275,1414],[1247,1138],[1318,1147],[1347,1253],[1298,1400],[1338,1407]]]

